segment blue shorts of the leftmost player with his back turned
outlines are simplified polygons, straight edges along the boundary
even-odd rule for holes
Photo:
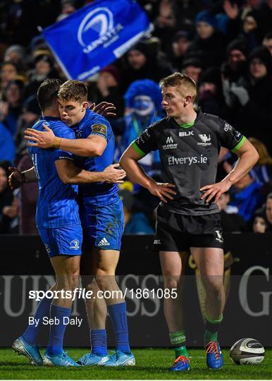
[[[38,229],[49,258],[56,255],[81,255],[81,225]]]

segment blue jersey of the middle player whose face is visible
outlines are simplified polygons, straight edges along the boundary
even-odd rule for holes
[[[104,116],[98,115],[89,109],[80,123],[73,126],[75,138],[87,138],[89,135],[100,135],[107,141],[106,149],[100,157],[76,157],[78,167],[86,171],[104,171],[113,164],[114,135],[111,125]],[[79,200],[84,205],[105,206],[118,200],[116,184],[89,183],[79,186]]]

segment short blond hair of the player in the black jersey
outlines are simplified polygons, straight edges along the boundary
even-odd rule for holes
[[[194,102],[195,97],[197,96],[197,84],[188,77],[188,75],[183,73],[175,72],[168,77],[163,78],[160,83],[160,87],[178,87],[178,91],[181,95],[186,97],[190,95],[192,97],[192,102]]]

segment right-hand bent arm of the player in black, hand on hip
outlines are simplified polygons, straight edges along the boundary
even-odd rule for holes
[[[214,199],[214,202],[217,202],[221,194],[228,191],[233,184],[242,179],[259,160],[258,152],[247,138],[243,138],[242,145],[235,151],[235,154],[239,159],[233,170],[225,176],[225,179],[220,181],[220,183],[203,186],[200,189],[200,191],[204,191],[202,200],[205,199],[206,202],[209,202]]]

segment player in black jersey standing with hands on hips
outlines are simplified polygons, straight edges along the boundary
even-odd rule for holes
[[[206,290],[206,364],[218,369],[223,357],[218,344],[218,326],[223,320],[223,237],[216,201],[247,174],[259,159],[249,141],[218,116],[194,111],[197,86],[187,75],[173,73],[161,80],[162,106],[166,118],[149,126],[120,159],[129,179],[161,198],[157,211],[154,246],[159,250],[164,286],[181,290],[181,253],[190,250]],[[238,157],[235,168],[216,181],[218,153],[227,147]],[[159,149],[165,183],[156,183],[144,173],[138,160]],[[185,329],[178,298],[164,301],[171,344],[175,349],[173,371],[190,368]]]

